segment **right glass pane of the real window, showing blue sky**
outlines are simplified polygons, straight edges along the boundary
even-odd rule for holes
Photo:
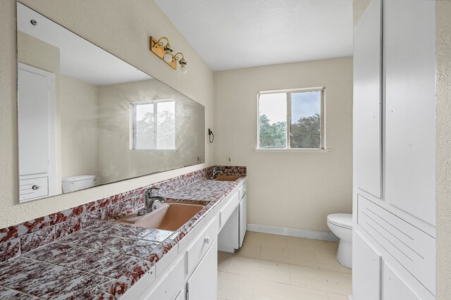
[[[321,147],[321,91],[291,94],[291,148]]]

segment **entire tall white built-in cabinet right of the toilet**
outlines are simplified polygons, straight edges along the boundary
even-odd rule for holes
[[[354,27],[354,300],[435,299],[435,1]]]

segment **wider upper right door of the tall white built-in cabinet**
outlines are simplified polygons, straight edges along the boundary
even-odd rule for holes
[[[435,1],[384,1],[385,200],[435,225]]]

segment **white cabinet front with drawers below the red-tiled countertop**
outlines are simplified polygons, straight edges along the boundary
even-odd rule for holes
[[[240,210],[240,204],[245,204],[242,202],[246,200],[245,194],[243,180],[199,220],[152,270],[128,289],[121,299],[216,299],[218,232],[233,218],[233,213]],[[238,245],[238,227],[235,236]]]

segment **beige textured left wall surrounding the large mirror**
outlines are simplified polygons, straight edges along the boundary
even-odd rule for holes
[[[23,0],[39,13],[70,28],[112,54],[206,106],[206,127],[213,127],[213,73],[152,0]],[[16,1],[0,1],[0,228],[125,192],[213,163],[206,163],[112,185],[18,203]],[[175,72],[149,51],[149,36],[166,36],[188,61],[186,75]]]

